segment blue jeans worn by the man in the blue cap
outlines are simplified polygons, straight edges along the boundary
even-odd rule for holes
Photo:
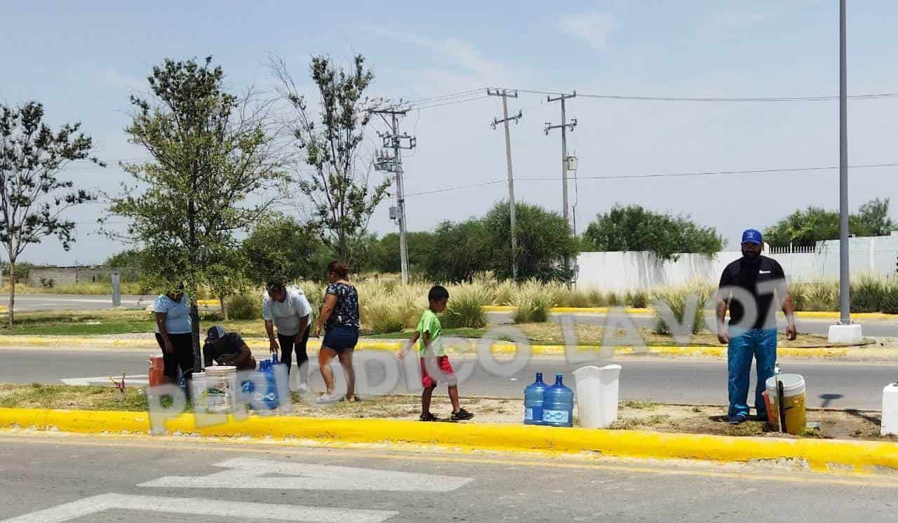
[[[752,359],[757,361],[758,382],[754,388],[754,408],[758,415],[767,417],[767,405],[761,396],[767,379],[773,376],[777,363],[777,329],[751,328],[733,331],[726,351],[726,367],[729,374],[729,415],[748,415],[748,388],[752,378]]]

